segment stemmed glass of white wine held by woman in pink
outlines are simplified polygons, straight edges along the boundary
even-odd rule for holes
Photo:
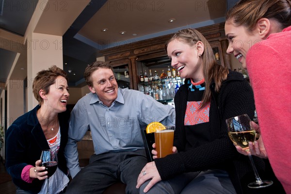
[[[262,188],[268,187],[273,184],[272,180],[261,180],[259,178],[258,171],[254,164],[252,155],[249,150],[249,142],[254,144],[256,140],[256,130],[251,126],[251,119],[247,114],[242,114],[229,119],[226,119],[226,125],[228,129],[228,136],[231,141],[236,145],[242,147],[242,150],[247,152],[247,155],[251,161],[256,181],[249,183],[249,188]]]

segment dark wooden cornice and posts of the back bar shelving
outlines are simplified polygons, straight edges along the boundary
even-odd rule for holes
[[[222,65],[231,67],[230,56],[226,53],[228,46],[225,31],[225,23],[214,24],[197,28],[214,49],[218,49],[219,62]],[[173,34],[155,37],[143,41],[132,42],[127,45],[121,45],[109,49],[103,49],[99,52],[105,57],[105,61],[113,66],[125,65],[129,66],[129,75],[131,78],[130,87],[138,89],[139,72],[137,72],[137,62],[147,59],[165,57],[166,51],[164,45]]]

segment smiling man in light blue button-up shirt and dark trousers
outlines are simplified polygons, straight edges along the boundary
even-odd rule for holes
[[[104,62],[87,66],[84,77],[91,93],[71,113],[65,157],[73,180],[66,193],[102,194],[117,180],[127,185],[127,194],[139,193],[136,181],[147,163],[141,129],[154,121],[175,125],[174,107],[139,91],[118,88],[112,66]],[[77,142],[88,129],[95,153],[81,170]]]

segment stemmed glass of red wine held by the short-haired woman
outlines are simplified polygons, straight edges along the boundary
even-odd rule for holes
[[[47,194],[49,194],[49,177],[51,177],[56,172],[58,167],[57,153],[51,151],[50,149],[42,150],[40,160],[41,160],[40,166],[45,166],[46,170],[44,171],[48,171]]]

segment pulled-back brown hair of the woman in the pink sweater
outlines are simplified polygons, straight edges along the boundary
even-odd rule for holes
[[[291,0],[240,0],[226,13],[226,22],[252,32],[260,18],[275,19],[283,30],[291,25]]]

